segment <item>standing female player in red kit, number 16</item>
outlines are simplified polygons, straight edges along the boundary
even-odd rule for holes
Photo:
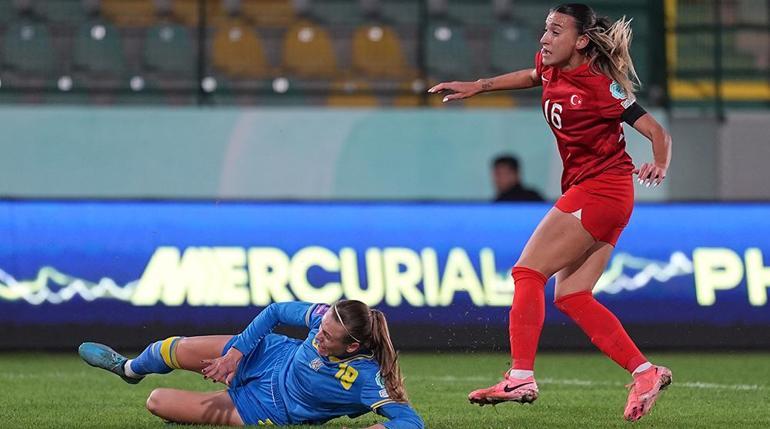
[[[512,368],[500,383],[471,392],[471,402],[532,402],[538,388],[534,363],[545,318],[544,286],[556,275],[555,304],[591,341],[633,375],[627,420],[647,414],[671,383],[671,371],[639,351],[618,319],[591,293],[633,210],[633,174],[659,185],[671,161],[671,137],[633,96],[638,82],[629,45],[630,22],[611,23],[584,4],[548,14],[535,68],[481,79],[441,83],[429,91],[444,101],[481,92],[543,87],[542,108],[559,147],[563,195],[530,237],[513,268],[510,311]],[[515,54],[515,53],[514,53]],[[634,169],[625,151],[622,122],[652,142],[654,161]]]

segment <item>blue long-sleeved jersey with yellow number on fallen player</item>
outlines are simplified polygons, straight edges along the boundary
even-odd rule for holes
[[[379,365],[369,351],[340,358],[318,353],[315,336],[328,309],[325,304],[272,304],[231,344],[247,361],[259,359],[251,353],[266,351],[269,352],[265,358],[282,360],[273,367],[274,375],[270,377],[272,399],[285,407],[289,424],[321,424],[336,417],[357,417],[373,411],[390,419],[383,423],[389,429],[422,428],[422,420],[408,404],[390,398]],[[302,342],[268,335],[278,324],[306,326],[310,332]],[[281,351],[275,352],[278,349]],[[264,362],[260,365],[264,366]],[[239,375],[240,379],[244,377],[249,376]],[[275,401],[276,397],[280,400]]]

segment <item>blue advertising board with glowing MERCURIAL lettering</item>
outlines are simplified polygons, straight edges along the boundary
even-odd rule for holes
[[[243,325],[271,302],[352,298],[393,324],[504,327],[510,268],[549,209],[0,202],[0,323]],[[633,325],[770,327],[769,238],[770,205],[638,205],[595,294]]]

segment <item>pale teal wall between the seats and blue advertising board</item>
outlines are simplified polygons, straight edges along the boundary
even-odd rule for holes
[[[487,200],[501,152],[560,194],[538,109],[13,107],[0,129],[5,197]],[[650,158],[639,134],[628,140]]]

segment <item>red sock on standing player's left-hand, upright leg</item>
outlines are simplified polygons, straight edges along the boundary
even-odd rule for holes
[[[513,305],[508,314],[508,334],[514,369],[535,368],[537,343],[545,320],[545,282],[548,279],[535,270],[513,267]]]

